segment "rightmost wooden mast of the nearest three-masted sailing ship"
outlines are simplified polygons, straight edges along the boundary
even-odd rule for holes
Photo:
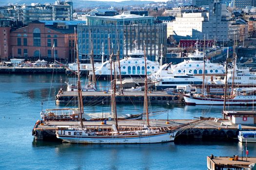
[[[144,109],[147,117],[147,127],[149,127],[148,115],[148,75],[147,75],[147,59],[146,59],[145,41],[144,41],[144,61],[145,61],[145,90],[144,90]]]

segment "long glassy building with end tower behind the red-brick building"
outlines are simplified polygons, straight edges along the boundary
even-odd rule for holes
[[[0,15],[14,22],[28,24],[33,20],[72,20],[73,2],[57,0],[54,4],[8,5],[0,8]]]

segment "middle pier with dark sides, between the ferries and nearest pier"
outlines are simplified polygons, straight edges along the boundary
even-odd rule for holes
[[[111,92],[105,91],[83,91],[83,102],[90,104],[99,104],[103,102],[110,102]],[[148,97],[151,103],[181,103],[184,102],[183,96],[169,95],[166,92],[153,91],[148,93]],[[56,95],[57,104],[68,104],[78,101],[77,91],[64,91],[61,94]],[[124,91],[123,94],[117,92],[117,103],[137,103],[143,104],[144,92],[143,91]]]

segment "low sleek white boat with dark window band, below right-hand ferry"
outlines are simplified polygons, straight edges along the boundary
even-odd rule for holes
[[[203,80],[193,75],[177,74],[172,77],[163,77],[161,81],[156,83],[157,90],[166,88],[177,88],[179,85],[202,85]]]

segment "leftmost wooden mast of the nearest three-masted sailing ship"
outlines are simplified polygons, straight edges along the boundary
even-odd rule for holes
[[[81,82],[80,82],[80,64],[79,64],[79,53],[78,53],[78,41],[76,35],[76,28],[75,29],[75,43],[76,43],[76,50],[77,50],[77,63],[78,63],[78,108],[79,108],[79,117],[80,117],[80,124],[81,128],[83,128],[83,100],[82,100],[82,90],[81,90]]]

